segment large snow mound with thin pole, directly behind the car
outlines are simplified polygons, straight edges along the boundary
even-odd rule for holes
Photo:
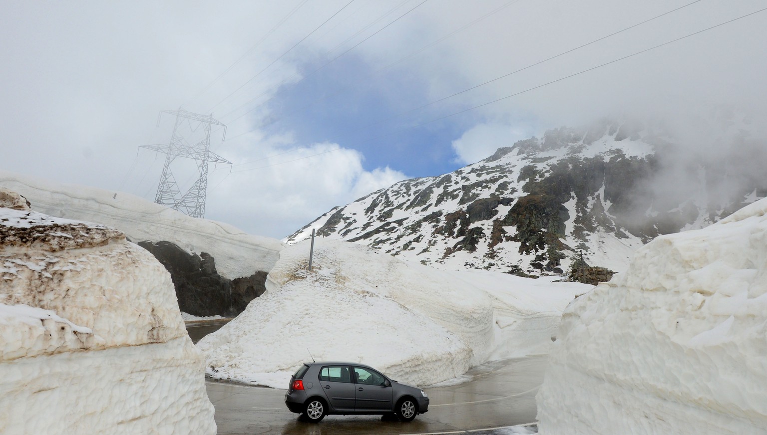
[[[308,350],[318,361],[359,361],[433,384],[489,358],[542,352],[561,310],[591,288],[445,272],[330,239],[316,241],[309,272],[308,251],[308,241],[283,250],[268,292],[200,340],[210,376],[285,388]]]

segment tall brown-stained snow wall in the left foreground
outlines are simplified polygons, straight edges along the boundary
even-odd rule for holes
[[[204,371],[150,253],[0,188],[0,433],[212,435]]]

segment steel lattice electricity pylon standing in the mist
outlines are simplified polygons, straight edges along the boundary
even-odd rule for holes
[[[210,162],[232,164],[229,160],[210,151],[211,127],[213,125],[224,127],[222,137],[225,138],[226,126],[219,123],[216,119],[213,119],[212,115],[199,115],[183,109],[162,110],[160,116],[157,117],[158,126],[160,126],[160,117],[163,116],[163,113],[176,115],[176,124],[173,126],[173,135],[170,136],[170,143],[140,146],[141,148],[153,149],[156,152],[163,152],[165,154],[163,174],[160,175],[160,185],[157,186],[157,195],[155,196],[154,201],[157,204],[166,205],[192,217],[205,217],[205,197],[208,189],[208,164]],[[189,127],[193,132],[196,131],[199,126],[203,127],[204,135],[202,140],[199,140],[199,142],[196,142],[194,145],[186,143],[186,139],[184,139],[179,129],[184,121],[189,122]],[[192,127],[193,123],[196,123],[195,127]],[[190,187],[183,195],[179,191],[179,185],[176,183],[176,178],[173,177],[173,172],[170,168],[171,163],[173,163],[173,160],[175,160],[176,157],[194,159],[197,162],[197,169],[199,172],[197,181],[194,182],[192,187]]]

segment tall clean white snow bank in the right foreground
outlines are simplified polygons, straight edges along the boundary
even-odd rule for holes
[[[765,433],[767,200],[658,237],[565,310],[541,433]]]

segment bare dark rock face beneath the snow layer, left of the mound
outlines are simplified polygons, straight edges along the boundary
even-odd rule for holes
[[[194,316],[237,316],[265,292],[266,272],[228,280],[216,272],[208,253],[187,253],[167,241],[139,242],[170,272],[179,309]]]

